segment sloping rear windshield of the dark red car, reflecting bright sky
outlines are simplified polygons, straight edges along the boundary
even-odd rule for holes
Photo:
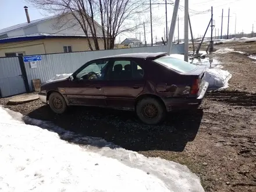
[[[191,70],[197,68],[197,66],[194,64],[182,61],[180,59],[172,58],[168,55],[155,59],[154,61],[179,73],[190,72]]]

